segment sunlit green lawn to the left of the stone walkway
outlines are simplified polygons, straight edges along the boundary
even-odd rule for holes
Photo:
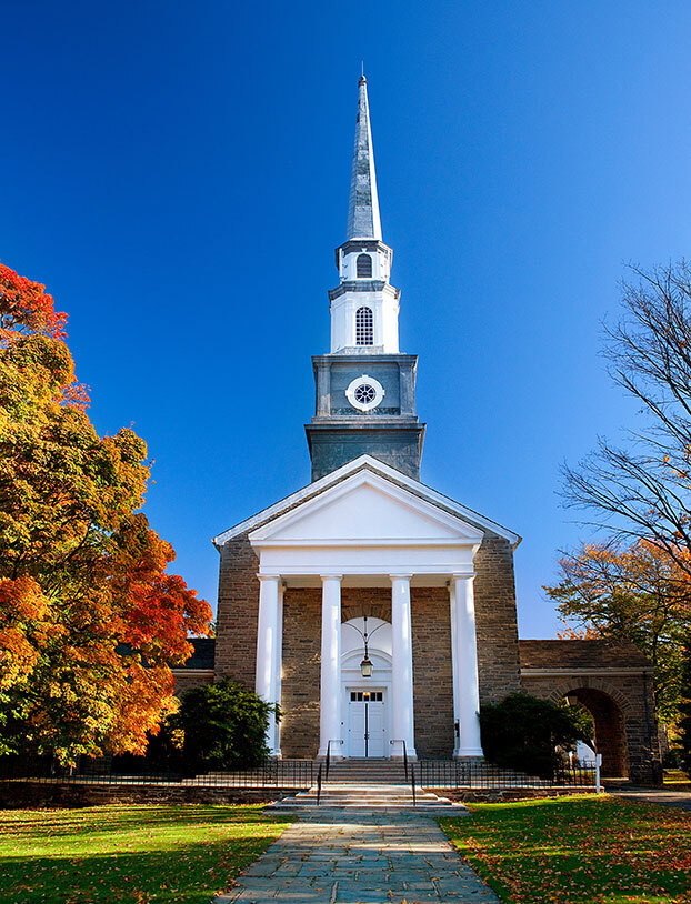
[[[209,904],[290,817],[260,806],[0,811],[3,904]]]

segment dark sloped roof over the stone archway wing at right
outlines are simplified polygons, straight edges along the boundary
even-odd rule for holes
[[[629,641],[519,641],[522,669],[645,669],[652,663]]]

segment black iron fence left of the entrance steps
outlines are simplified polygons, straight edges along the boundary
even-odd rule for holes
[[[56,784],[158,784],[203,787],[310,787],[314,780],[311,760],[267,760],[252,769],[219,770],[194,774],[159,770],[147,763],[122,766],[108,759],[81,757],[73,767],[49,757],[0,759],[0,782],[32,781]]]

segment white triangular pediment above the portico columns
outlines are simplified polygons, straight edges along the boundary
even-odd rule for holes
[[[482,535],[477,526],[365,469],[263,524],[250,541],[477,545]]]

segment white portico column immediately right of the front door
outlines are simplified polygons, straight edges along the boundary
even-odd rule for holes
[[[391,574],[391,709],[393,742],[405,742],[409,757],[415,754],[412,687],[412,627],[410,617],[411,574]],[[393,743],[393,756],[403,755],[403,745]]]

